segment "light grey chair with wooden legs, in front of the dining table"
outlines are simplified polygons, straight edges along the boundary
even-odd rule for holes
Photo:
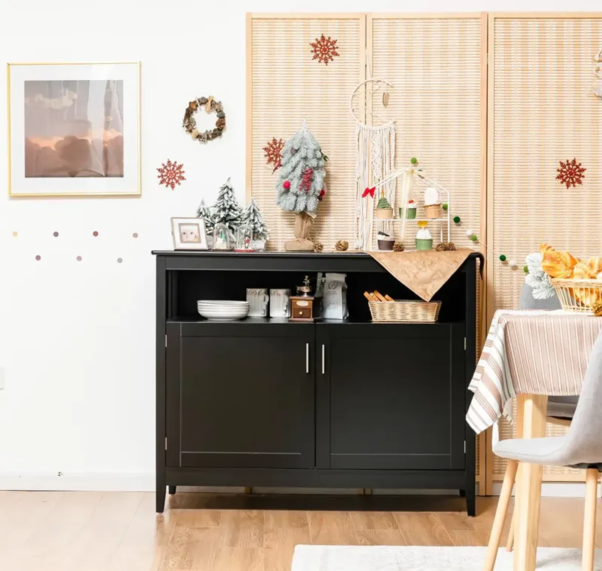
[[[508,466],[489,537],[485,571],[492,571],[495,564],[519,462],[586,469],[582,569],[594,569],[597,482],[598,470],[602,469],[601,408],[602,334],[598,335],[592,349],[579,403],[567,434],[544,438],[509,438],[500,440],[493,448],[494,454],[508,460]]]

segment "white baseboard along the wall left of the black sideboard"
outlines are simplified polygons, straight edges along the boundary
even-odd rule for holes
[[[155,491],[154,473],[2,473],[0,490]]]

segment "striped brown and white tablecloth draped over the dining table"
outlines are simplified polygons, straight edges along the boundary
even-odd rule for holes
[[[498,310],[468,388],[477,434],[509,417],[512,397],[579,395],[602,318],[566,311]]]

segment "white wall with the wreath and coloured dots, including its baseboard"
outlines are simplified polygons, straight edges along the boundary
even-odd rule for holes
[[[0,0],[0,63],[140,60],[143,66],[141,198],[9,200],[0,193],[0,367],[5,378],[0,488],[152,489],[155,260],[150,252],[171,248],[170,216],[193,216],[200,199],[213,201],[228,176],[244,199],[246,10],[597,6],[556,0],[209,5]],[[4,81],[2,74],[0,108],[5,108]],[[203,95],[223,102],[228,121],[223,138],[206,146],[191,141],[181,128],[188,101]],[[198,117],[201,126],[211,122]],[[0,131],[5,133],[3,113]],[[6,137],[0,135],[3,184],[5,147]],[[174,191],[157,184],[155,169],[167,158],[184,163],[187,180]],[[99,236],[93,237],[93,231]]]

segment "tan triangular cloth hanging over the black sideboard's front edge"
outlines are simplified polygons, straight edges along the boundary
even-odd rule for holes
[[[417,296],[430,301],[439,288],[462,266],[474,250],[453,252],[418,250],[415,252],[368,252],[387,272]]]

